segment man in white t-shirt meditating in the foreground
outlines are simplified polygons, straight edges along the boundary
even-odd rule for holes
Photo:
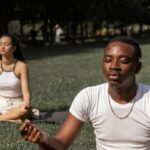
[[[150,150],[150,86],[136,82],[141,57],[139,44],[131,37],[111,40],[103,58],[108,83],[80,91],[51,138],[26,120],[20,127],[24,139],[38,143],[41,150],[68,149],[89,120],[97,150]]]

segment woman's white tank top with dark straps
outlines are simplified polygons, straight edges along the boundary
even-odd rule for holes
[[[0,96],[4,97],[22,97],[21,81],[16,76],[16,63],[13,70],[5,71],[1,64],[2,72],[0,74]]]

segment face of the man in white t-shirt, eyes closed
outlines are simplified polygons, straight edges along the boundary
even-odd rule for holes
[[[132,45],[112,42],[104,51],[103,72],[110,85],[126,86],[135,82],[139,62]]]

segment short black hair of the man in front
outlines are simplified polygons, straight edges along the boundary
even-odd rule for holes
[[[115,41],[123,42],[123,43],[127,43],[127,44],[132,45],[134,47],[134,49],[135,49],[135,54],[136,54],[137,58],[138,59],[142,58],[142,53],[141,53],[140,45],[132,37],[130,37],[130,36],[117,36],[114,39],[112,39],[109,43],[115,42]]]

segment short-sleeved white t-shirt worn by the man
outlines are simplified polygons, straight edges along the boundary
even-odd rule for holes
[[[129,89],[130,90],[130,89]],[[128,92],[128,91],[127,91]],[[138,84],[135,98],[127,104],[108,100],[108,83],[87,87],[75,97],[70,113],[85,122],[90,120],[96,136],[97,150],[150,150],[150,86]]]

